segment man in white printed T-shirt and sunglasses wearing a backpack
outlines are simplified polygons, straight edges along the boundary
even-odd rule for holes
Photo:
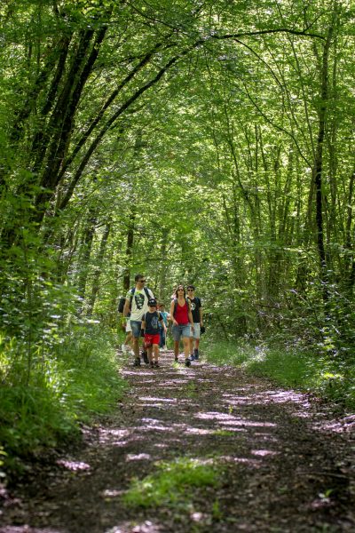
[[[145,286],[146,278],[143,274],[136,274],[134,281],[136,285],[132,287],[126,295],[126,302],[123,307],[123,316],[130,314],[130,329],[132,330],[132,344],[135,356],[134,366],[140,366],[139,338],[141,337],[142,317],[148,311],[148,301],[154,298],[152,290]]]

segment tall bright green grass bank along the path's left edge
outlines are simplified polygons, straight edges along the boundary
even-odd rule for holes
[[[2,343],[0,442],[9,471],[43,449],[79,438],[79,424],[112,410],[125,389],[113,336],[88,326],[67,334],[60,349],[33,357],[29,381],[22,346]]]

